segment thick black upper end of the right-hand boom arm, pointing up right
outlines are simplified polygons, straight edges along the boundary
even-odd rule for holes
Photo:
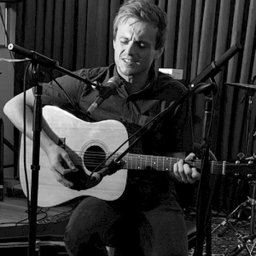
[[[206,81],[208,78],[216,76],[221,67],[224,66],[238,51],[242,49],[240,44],[235,44],[230,47],[218,60],[212,61],[190,84],[191,87],[198,83]]]

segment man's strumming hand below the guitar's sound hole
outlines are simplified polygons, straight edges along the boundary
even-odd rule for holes
[[[73,183],[64,178],[64,175],[76,172],[78,169],[75,167],[74,163],[71,161],[68,153],[63,150],[60,146],[52,144],[47,147],[46,152],[53,174],[56,177],[56,180],[66,187],[73,187]],[[64,168],[61,162],[65,162],[69,168]]]

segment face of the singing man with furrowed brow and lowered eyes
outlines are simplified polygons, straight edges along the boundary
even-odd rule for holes
[[[113,41],[117,70],[124,78],[147,74],[162,49],[155,50],[158,29],[150,24],[130,18],[118,26]]]

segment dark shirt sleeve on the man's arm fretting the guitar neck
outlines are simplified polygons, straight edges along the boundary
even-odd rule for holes
[[[180,81],[165,75],[159,78],[159,83],[164,88],[162,97],[166,99],[165,108],[177,102],[189,90]],[[175,152],[190,153],[193,150],[189,100],[182,101],[176,111],[172,108],[166,111],[156,127],[158,141],[155,144],[159,145],[162,155]]]

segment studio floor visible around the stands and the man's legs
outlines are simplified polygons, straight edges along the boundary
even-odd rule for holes
[[[29,249],[27,199],[23,194],[19,181],[5,179],[4,187],[4,199],[0,201],[0,255],[27,256]],[[39,242],[41,256],[68,255],[63,244],[63,232],[72,209],[72,203],[51,208],[38,208],[36,241],[37,245]],[[214,218],[212,222],[214,229],[212,231],[222,221],[223,218]],[[239,230],[248,232],[248,224],[248,221],[239,223]],[[225,226],[221,226],[212,233],[212,255],[215,256],[226,255],[233,248],[236,248],[237,245],[237,237],[232,229],[229,229],[224,237],[218,237],[218,233],[222,229],[225,229]],[[193,252],[194,249],[189,250],[189,255],[193,255]],[[248,254],[246,249],[243,249],[238,255]]]

